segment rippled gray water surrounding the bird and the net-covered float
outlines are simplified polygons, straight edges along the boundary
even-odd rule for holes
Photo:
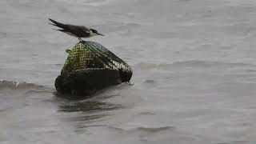
[[[92,26],[132,66],[92,98],[56,96],[77,38],[47,18]],[[256,1],[1,0],[0,143],[256,143]]]

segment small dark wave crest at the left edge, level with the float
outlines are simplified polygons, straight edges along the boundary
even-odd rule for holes
[[[26,83],[26,82],[14,82],[14,81],[0,81],[0,90],[1,89],[30,89],[30,88],[42,88],[43,86],[36,85],[34,83]]]

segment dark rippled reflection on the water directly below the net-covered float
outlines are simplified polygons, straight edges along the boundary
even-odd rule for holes
[[[112,122],[114,114],[126,108],[118,99],[121,97],[120,90],[129,88],[129,84],[122,83],[99,90],[86,98],[55,92],[58,120],[68,127],[71,126],[75,133],[85,133],[98,126],[105,127],[106,123]]]

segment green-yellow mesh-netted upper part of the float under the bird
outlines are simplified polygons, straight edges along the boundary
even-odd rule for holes
[[[68,53],[62,75],[72,74],[78,70],[110,69],[119,71],[122,82],[130,81],[130,66],[97,42],[78,42]]]

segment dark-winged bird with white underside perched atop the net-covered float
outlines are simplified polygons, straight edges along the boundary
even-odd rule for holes
[[[50,25],[57,26],[62,29],[58,29],[58,31],[62,31],[63,33],[69,34],[71,36],[77,37],[80,42],[83,42],[82,38],[90,38],[95,35],[105,36],[103,34],[98,33],[97,30],[90,29],[86,26],[76,26],[70,24],[63,24],[61,22],[54,21],[53,19],[49,18]],[[54,29],[57,30],[57,29]]]

